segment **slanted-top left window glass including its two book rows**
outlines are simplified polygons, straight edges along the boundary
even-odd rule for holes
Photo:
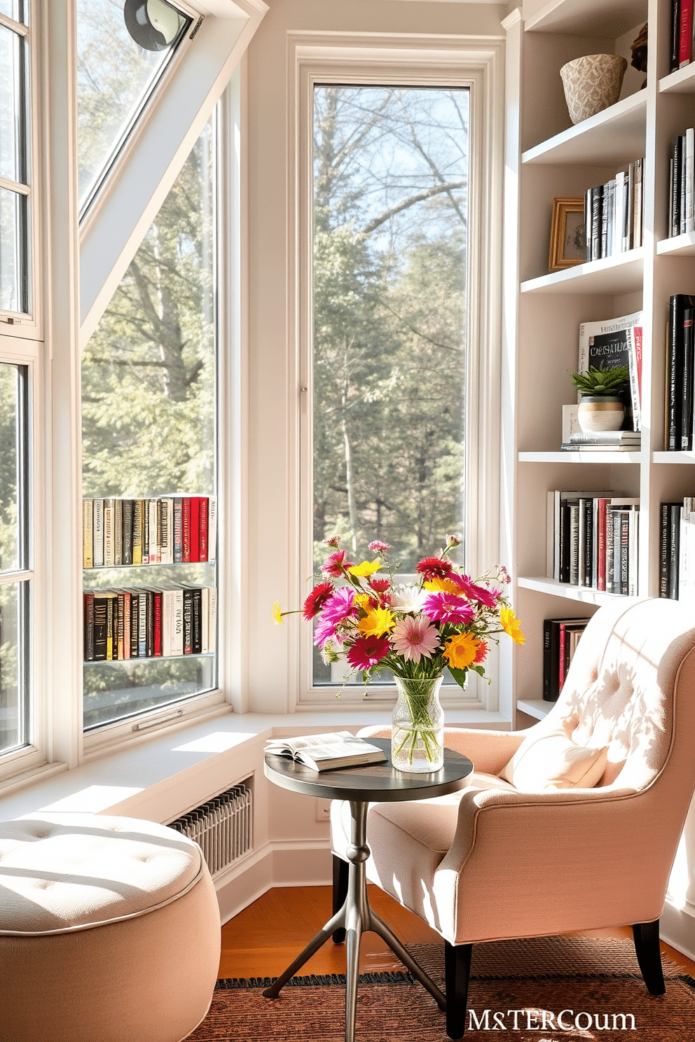
[[[176,646],[165,646],[163,600],[158,649],[156,629],[152,646],[147,644],[150,638],[141,634],[130,654],[116,639],[100,654],[98,648],[88,647],[85,635],[85,729],[217,685],[215,604],[209,600],[209,591],[217,587],[216,196],[215,117],[187,159],[82,357],[82,492],[88,503],[85,538],[93,538],[94,551],[85,560],[83,580],[88,595],[95,598],[85,601],[85,622],[89,625],[90,605],[97,605],[100,598],[109,611],[121,613],[114,614],[110,624],[119,638],[118,627],[125,626],[127,640],[123,595],[130,598],[131,621],[136,597],[141,620],[145,611],[146,625],[156,627],[157,597],[163,592],[180,594],[185,604],[187,591],[203,591],[190,609],[199,615],[200,643],[184,641],[178,651]],[[206,560],[198,552],[201,513],[197,543],[189,513],[191,552],[185,553],[187,502],[189,512],[200,512],[201,500],[207,511]],[[152,514],[151,504],[157,501]],[[174,512],[169,514],[168,530],[175,539],[169,559],[164,550],[163,502],[166,511]],[[144,513],[133,521],[138,510]],[[105,536],[108,511],[110,556]],[[104,522],[99,534],[98,514]],[[177,523],[182,526],[178,557],[172,527]],[[147,564],[135,561],[136,539],[140,560]],[[131,541],[129,560],[126,541]],[[187,623],[182,618],[184,625],[190,624],[191,619]]]

